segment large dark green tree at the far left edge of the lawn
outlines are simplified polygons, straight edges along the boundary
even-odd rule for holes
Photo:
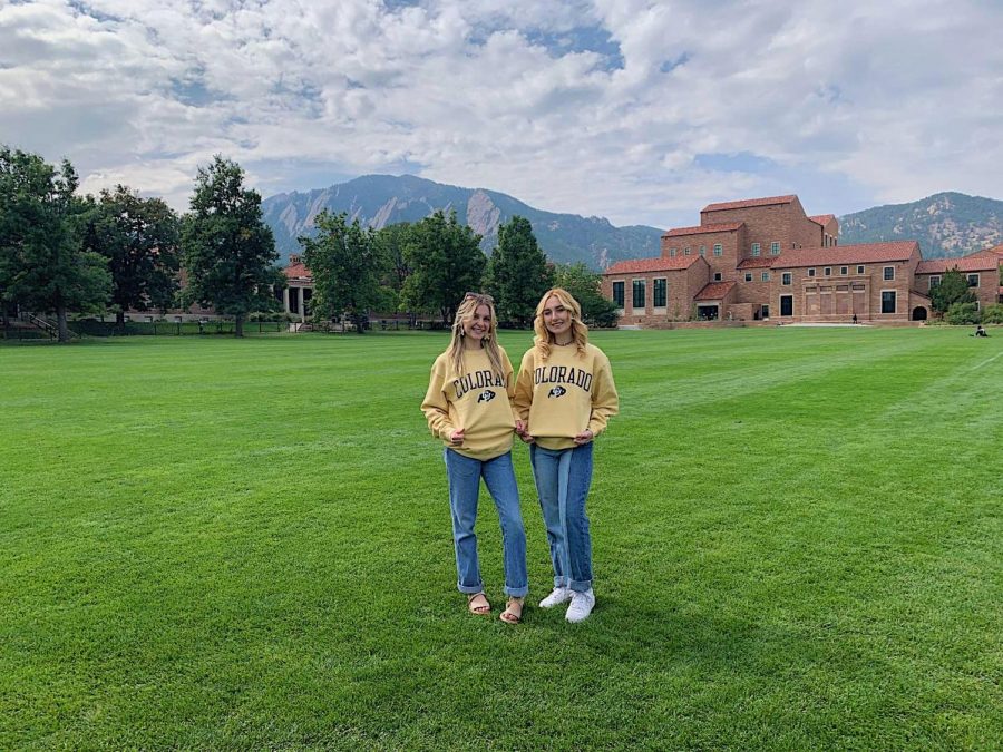
[[[0,147],[0,295],[4,303],[55,313],[59,341],[67,313],[103,309],[111,291],[106,260],[82,247],[86,204],[77,173],[37,155]]]

